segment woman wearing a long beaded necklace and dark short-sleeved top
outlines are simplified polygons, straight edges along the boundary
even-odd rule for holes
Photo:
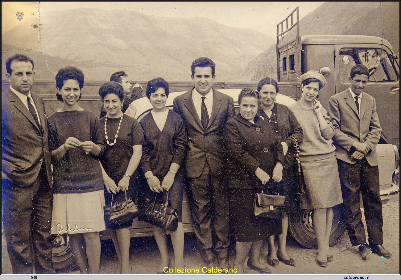
[[[111,193],[124,194],[135,189],[136,171],[142,156],[144,135],[137,120],[124,115],[121,111],[124,90],[117,82],[104,83],[99,95],[107,112],[100,119],[104,127],[105,156],[101,158],[103,180],[107,192],[105,199],[111,200]],[[110,229],[115,251],[118,256],[117,273],[130,274],[130,229]]]

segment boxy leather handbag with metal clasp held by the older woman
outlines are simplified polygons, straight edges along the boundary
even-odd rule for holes
[[[267,195],[257,193],[253,200],[255,217],[268,217],[283,219],[283,211],[286,208],[286,197],[282,195]]]

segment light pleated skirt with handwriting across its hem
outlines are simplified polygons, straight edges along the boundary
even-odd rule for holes
[[[56,193],[53,195],[51,234],[105,230],[104,192]]]

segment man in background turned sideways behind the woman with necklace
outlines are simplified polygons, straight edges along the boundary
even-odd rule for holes
[[[121,111],[123,113],[125,113],[125,111],[128,109],[128,106],[130,106],[132,101],[142,98],[142,86],[139,83],[136,83],[131,93],[132,84],[128,82],[127,77],[128,75],[124,71],[115,72],[110,76],[110,81],[117,82],[123,87],[124,102],[123,102],[123,107],[121,108]],[[102,105],[100,108],[99,119],[106,116],[106,114],[107,112],[106,110],[104,110],[104,106]]]

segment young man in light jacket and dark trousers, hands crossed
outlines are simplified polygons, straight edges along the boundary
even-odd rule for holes
[[[334,145],[340,174],[343,221],[352,246],[359,245],[363,260],[372,253],[391,258],[383,247],[383,216],[379,190],[379,166],[376,145],[381,127],[376,113],[376,101],[363,92],[369,70],[362,64],[351,69],[351,86],[330,97],[328,114],[334,127]],[[369,245],[360,211],[362,194]]]

